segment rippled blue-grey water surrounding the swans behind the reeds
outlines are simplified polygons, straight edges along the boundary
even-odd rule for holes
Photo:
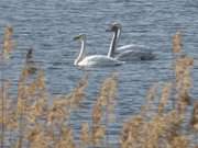
[[[0,0],[0,34],[7,24],[14,27],[18,47],[8,76],[16,80],[19,68],[29,47],[46,70],[51,93],[69,92],[82,76],[73,62],[79,52],[73,37],[86,33],[89,54],[107,54],[111,34],[105,30],[111,22],[122,23],[120,45],[145,45],[157,54],[154,61],[134,61],[120,67],[89,70],[87,110],[74,116],[79,123],[90,117],[99,82],[112,71],[119,73],[117,124],[140,111],[147,88],[154,82],[172,79],[172,36],[177,30],[184,34],[184,49],[195,57],[193,98],[198,98],[198,1],[196,0]],[[80,116],[80,117],[79,117]],[[75,127],[79,128],[77,122]]]

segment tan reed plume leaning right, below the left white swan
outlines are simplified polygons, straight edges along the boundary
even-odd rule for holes
[[[64,147],[70,146],[76,147],[74,141],[70,141],[73,139],[73,134],[69,135],[70,138],[66,139],[63,136],[66,134],[63,134],[63,130],[59,130],[62,128],[68,128],[72,130],[72,127],[69,127],[69,118],[70,118],[70,112],[73,112],[75,109],[77,109],[80,103],[84,101],[85,98],[85,89],[87,87],[87,76],[85,76],[77,87],[72,91],[68,95],[62,95],[54,99],[52,107],[47,111],[47,125],[50,125],[51,129],[53,129],[53,139],[55,141],[55,147]],[[58,132],[59,130],[59,132]],[[57,138],[56,138],[57,137]]]

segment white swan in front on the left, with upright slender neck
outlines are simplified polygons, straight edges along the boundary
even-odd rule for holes
[[[91,55],[86,56],[86,35],[80,34],[74,37],[75,41],[80,41],[81,49],[79,56],[75,59],[74,65],[80,67],[89,67],[89,66],[118,66],[122,65],[123,61],[119,61],[112,57],[108,57],[106,55]]]

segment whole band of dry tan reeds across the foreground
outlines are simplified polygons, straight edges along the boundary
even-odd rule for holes
[[[19,76],[18,95],[10,95],[4,67],[14,47],[12,35],[13,29],[8,26],[1,54],[1,148],[112,147],[108,128],[116,118],[118,76],[113,73],[101,83],[90,113],[91,122],[81,123],[79,140],[76,140],[70,115],[80,110],[86,99],[88,76],[85,75],[70,93],[52,95],[46,90],[45,73],[34,62],[33,49],[30,49]],[[180,32],[173,37],[173,56],[175,79],[151,87],[140,113],[123,123],[118,147],[198,147],[189,137],[198,134],[198,102],[190,98],[194,59],[184,55]],[[188,109],[191,109],[190,116]]]

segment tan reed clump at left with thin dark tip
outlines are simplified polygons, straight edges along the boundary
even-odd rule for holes
[[[29,53],[28,53],[29,54]],[[28,57],[28,56],[26,56]],[[26,59],[28,60],[28,59]],[[30,111],[43,111],[42,109],[38,109],[38,106],[35,104],[37,103],[36,95],[40,90],[45,89],[43,84],[43,76],[42,72],[38,73],[37,78],[33,81],[31,81],[31,76],[33,73],[30,71],[29,65],[24,65],[24,68],[22,69],[19,84],[18,84],[18,106],[16,106],[16,113],[18,113],[18,121],[19,121],[19,140],[18,140],[18,148],[23,147],[23,140],[25,140],[25,133],[29,127],[30,121],[32,123],[36,122],[35,115],[40,115],[38,113],[35,114],[35,112]],[[40,101],[41,103],[42,101]],[[34,104],[34,106],[32,106]]]

